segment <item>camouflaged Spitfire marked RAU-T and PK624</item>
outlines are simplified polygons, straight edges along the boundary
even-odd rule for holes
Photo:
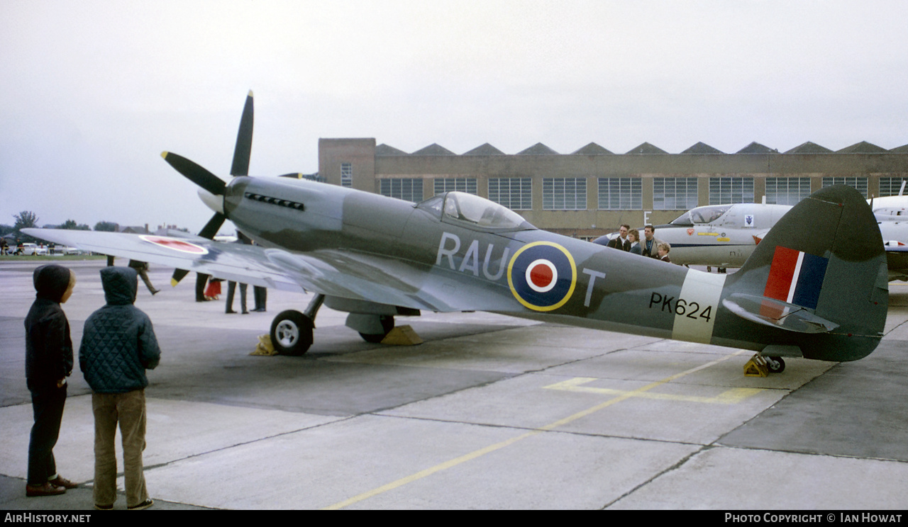
[[[888,304],[883,243],[870,208],[850,187],[815,192],[777,222],[744,268],[717,275],[558,236],[467,193],[414,204],[316,181],[243,175],[251,108],[252,97],[231,181],[163,154],[202,187],[203,201],[215,211],[204,237],[28,233],[216,278],[315,293],[304,311],[284,311],[271,323],[273,345],[288,355],[309,349],[322,304],[348,312],[346,325],[370,341],[384,337],[396,316],[481,310],[751,349],[769,357],[775,371],[784,367],[783,356],[859,359],[882,337]],[[224,219],[257,245],[208,239]]]

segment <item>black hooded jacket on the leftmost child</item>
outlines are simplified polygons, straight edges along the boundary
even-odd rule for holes
[[[73,341],[60,307],[70,271],[57,265],[35,269],[35,302],[25,316],[25,378],[29,387],[56,386],[73,373]]]

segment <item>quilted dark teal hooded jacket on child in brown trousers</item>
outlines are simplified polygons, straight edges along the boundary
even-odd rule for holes
[[[148,385],[145,369],[161,358],[151,319],[133,306],[138,290],[133,268],[101,269],[107,305],[85,320],[79,367],[98,394],[124,394]]]

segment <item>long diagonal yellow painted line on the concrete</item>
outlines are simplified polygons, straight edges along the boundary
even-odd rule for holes
[[[485,454],[489,454],[489,453],[495,452],[496,450],[500,450],[506,446],[509,446],[511,444],[515,444],[518,441],[527,439],[528,437],[532,437],[534,435],[538,435],[543,432],[548,432],[550,430],[558,428],[558,426],[568,425],[568,423],[573,423],[574,421],[577,421],[577,419],[581,419],[583,417],[586,417],[587,415],[595,414],[596,412],[598,412],[599,410],[602,410],[603,408],[607,408],[608,406],[614,405],[616,403],[620,403],[621,401],[626,401],[627,399],[637,396],[637,394],[649,391],[649,390],[655,388],[656,386],[670,383],[671,381],[674,381],[675,379],[681,378],[683,376],[688,376],[692,373],[696,373],[700,370],[704,370],[710,366],[716,366],[717,364],[724,362],[725,360],[728,360],[729,358],[732,358],[733,356],[739,356],[742,353],[747,353],[747,350],[742,349],[731,355],[726,355],[721,358],[717,358],[716,360],[714,360],[712,362],[707,362],[704,365],[690,368],[689,370],[675,374],[674,376],[667,376],[666,378],[664,378],[662,380],[639,387],[636,390],[631,390],[622,395],[617,395],[614,399],[609,399],[603,403],[599,403],[598,405],[591,406],[591,407],[587,408],[586,410],[577,412],[577,414],[568,415],[568,417],[565,417],[564,419],[559,419],[558,421],[556,421],[554,423],[549,423],[548,425],[541,426],[535,430],[531,430],[525,434],[520,434],[520,435],[514,436],[510,439],[507,439],[505,441],[502,441],[502,442],[499,442],[496,444],[490,444],[489,446],[480,448],[479,450],[475,450],[469,454],[464,454],[459,457],[455,457],[454,459],[446,461],[445,463],[437,464],[437,465],[429,467],[425,470],[419,471],[418,473],[413,473],[413,474],[410,474],[409,476],[400,478],[399,480],[381,485],[380,487],[372,489],[365,493],[357,494],[350,499],[344,500],[342,502],[334,503],[333,505],[324,507],[322,510],[323,511],[336,511],[338,509],[348,507],[348,506],[352,505],[353,503],[359,503],[363,500],[368,500],[369,498],[377,496],[381,493],[387,493],[388,491],[392,491],[394,489],[402,487],[403,485],[406,485],[407,483],[413,483],[415,481],[419,481],[422,478],[432,475],[433,473],[439,473],[443,470],[447,470],[447,469],[455,467],[459,464],[466,463],[470,460],[476,459]]]

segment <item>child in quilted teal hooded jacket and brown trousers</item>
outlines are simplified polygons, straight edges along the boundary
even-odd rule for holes
[[[143,474],[145,449],[146,369],[161,358],[151,319],[133,306],[138,280],[133,268],[103,268],[101,283],[107,304],[85,320],[79,366],[92,387],[94,411],[94,508],[109,510],[116,501],[114,436],[123,436],[126,506],[147,509]]]

